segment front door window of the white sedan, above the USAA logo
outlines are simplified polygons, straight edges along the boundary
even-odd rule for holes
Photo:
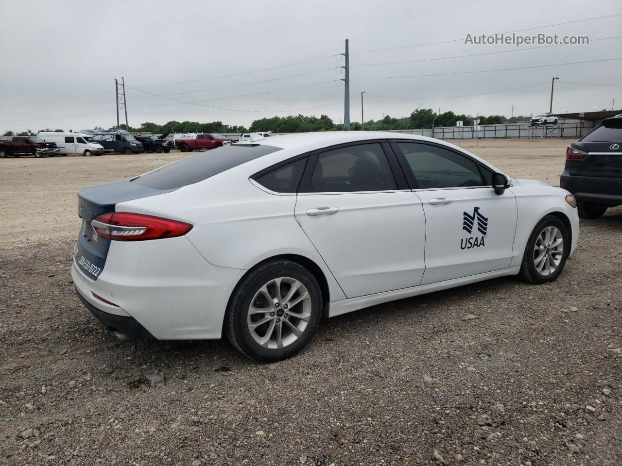
[[[402,166],[411,185],[419,189],[471,188],[490,185],[485,178],[492,178],[480,173],[478,164],[453,150],[432,144],[417,142],[393,143],[397,157],[401,158]]]

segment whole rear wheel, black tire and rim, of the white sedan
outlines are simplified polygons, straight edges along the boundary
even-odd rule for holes
[[[309,342],[322,316],[322,291],[302,265],[259,265],[236,287],[225,333],[244,355],[261,362],[290,358]]]

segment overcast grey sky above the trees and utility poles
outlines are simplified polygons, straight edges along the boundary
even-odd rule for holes
[[[239,0],[230,5],[0,0],[0,134],[113,126],[114,78],[121,76],[128,86],[131,126],[170,120],[248,126],[257,118],[298,113],[327,114],[340,122],[339,54],[345,39],[350,39],[352,121],[361,119],[361,91],[367,92],[366,121],[408,116],[420,104],[508,117],[514,105],[515,116],[536,114],[549,109],[552,76],[560,78],[554,112],[611,109],[614,98],[616,109],[622,107],[622,60],[560,65],[622,58],[622,39],[596,40],[622,35],[622,16],[517,33],[587,35],[589,45],[526,50],[538,46],[464,43],[467,34],[622,14],[620,0],[316,0],[304,6]],[[431,42],[445,43],[420,45]],[[419,46],[404,47],[409,45]],[[364,52],[378,48],[393,49]],[[430,60],[501,51],[511,52]],[[295,62],[305,63],[290,65]],[[361,66],[388,62],[406,63]],[[541,65],[557,66],[463,73]],[[297,86],[305,87],[291,89]],[[523,86],[530,87],[516,89]],[[450,98],[485,93],[492,94]],[[203,106],[183,103],[191,101]]]

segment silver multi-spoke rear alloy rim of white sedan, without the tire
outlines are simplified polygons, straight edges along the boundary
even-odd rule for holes
[[[275,278],[253,296],[248,308],[248,331],[262,347],[281,349],[302,336],[311,313],[309,291],[300,281]]]

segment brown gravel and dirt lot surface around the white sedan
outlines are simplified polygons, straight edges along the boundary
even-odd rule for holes
[[[567,142],[537,143],[470,150],[554,182]],[[2,203],[0,464],[622,464],[622,208],[582,221],[552,284],[499,278],[325,319],[297,357],[262,365],[226,340],[121,343],[83,308],[75,185],[161,158],[109,157],[2,161],[35,175],[0,174],[23,212]],[[41,163],[75,176],[93,160],[111,171]],[[30,225],[45,190],[59,229]],[[10,244],[10,222],[29,239]]]

